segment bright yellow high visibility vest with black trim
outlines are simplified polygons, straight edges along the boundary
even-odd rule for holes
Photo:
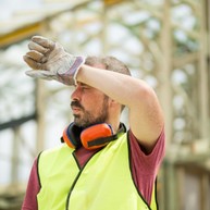
[[[66,145],[38,159],[39,210],[157,210],[156,187],[148,206],[131,172],[127,134],[111,141],[79,169]]]

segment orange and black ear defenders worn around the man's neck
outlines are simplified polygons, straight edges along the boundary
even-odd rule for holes
[[[115,140],[122,133],[126,132],[123,123],[115,135],[111,125],[107,123],[96,124],[85,129],[71,123],[64,131],[61,138],[71,148],[84,146],[86,149],[98,149],[104,147],[108,143]]]

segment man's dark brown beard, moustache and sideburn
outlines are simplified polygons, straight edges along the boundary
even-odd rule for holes
[[[97,113],[97,116],[94,116],[91,112],[85,110],[85,108],[79,103],[79,101],[72,101],[71,106],[75,106],[82,109],[83,114],[74,114],[74,123],[79,127],[88,127],[90,125],[104,123],[108,120],[108,99],[109,97],[104,96],[102,106]]]

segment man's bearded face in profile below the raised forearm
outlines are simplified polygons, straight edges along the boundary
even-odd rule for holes
[[[74,123],[77,126],[87,127],[108,120],[109,97],[98,89],[78,83],[71,99]]]

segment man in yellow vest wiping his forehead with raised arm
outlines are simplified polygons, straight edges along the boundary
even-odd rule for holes
[[[115,58],[73,57],[39,36],[28,47],[27,75],[75,85],[74,122],[63,132],[65,144],[35,160],[22,210],[157,209],[164,122],[155,91]]]

